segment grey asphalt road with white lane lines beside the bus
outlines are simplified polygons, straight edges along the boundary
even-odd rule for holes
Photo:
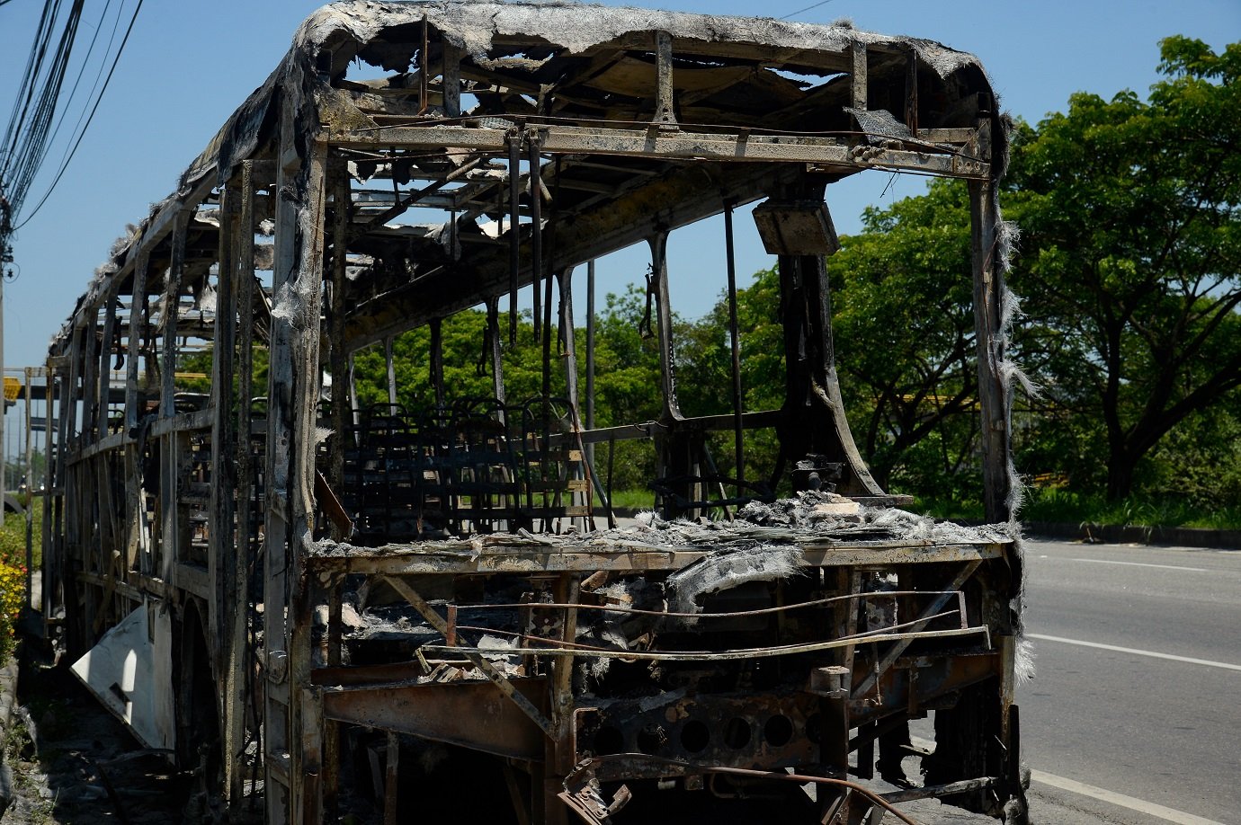
[[[1241,552],[1029,541],[1026,569],[1034,820],[1241,824]]]

